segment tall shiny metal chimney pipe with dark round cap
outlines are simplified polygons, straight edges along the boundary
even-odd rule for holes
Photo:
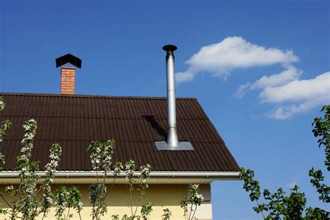
[[[175,108],[175,75],[174,75],[174,55],[178,49],[174,45],[163,47],[166,51],[166,75],[167,75],[167,144],[170,147],[178,147],[178,133],[176,129],[176,108]]]

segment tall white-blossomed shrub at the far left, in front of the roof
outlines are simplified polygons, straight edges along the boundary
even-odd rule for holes
[[[10,219],[35,219],[43,213],[43,217],[49,212],[52,205],[51,185],[54,179],[56,168],[58,167],[59,157],[61,156],[61,146],[53,144],[50,149],[50,158],[46,166],[46,177],[42,182],[40,189],[37,188],[39,179],[38,162],[31,162],[31,152],[33,149],[33,140],[36,136],[36,120],[29,120],[23,125],[24,136],[22,139],[21,155],[17,157],[17,171],[19,171],[19,187],[13,185],[6,187],[5,191],[12,201],[8,202],[1,195],[1,198],[10,207],[8,210],[1,210],[2,214],[9,214]],[[37,198],[39,191],[43,191],[42,198]],[[11,204],[11,205],[10,205]]]

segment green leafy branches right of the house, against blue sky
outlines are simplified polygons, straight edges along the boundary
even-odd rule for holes
[[[324,146],[326,160],[324,162],[330,171],[330,148],[329,148],[329,129],[330,129],[330,106],[324,106],[324,118],[315,118],[312,125],[314,125],[313,133],[315,137],[319,137],[317,142],[319,147]],[[322,171],[314,170],[309,171],[311,177],[311,183],[317,189],[320,194],[319,198],[324,203],[329,203],[330,187],[327,184],[322,183],[324,177]],[[279,188],[274,194],[271,194],[268,189],[263,191],[263,200],[265,203],[259,204],[260,200],[260,184],[258,180],[254,179],[254,172],[250,169],[245,171],[241,168],[239,178],[244,181],[243,189],[249,192],[251,201],[256,201],[257,206],[253,207],[253,210],[257,213],[261,213],[264,219],[329,219],[330,213],[320,209],[319,207],[306,207],[306,197],[304,193],[298,192],[299,187],[294,185],[291,189],[290,195],[285,196],[285,191]],[[304,210],[306,214],[304,216]],[[264,214],[267,213],[267,216]]]

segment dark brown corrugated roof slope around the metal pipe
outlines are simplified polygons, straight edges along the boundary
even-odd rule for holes
[[[59,143],[62,171],[90,171],[86,149],[93,140],[116,140],[113,161],[133,159],[152,171],[239,171],[209,118],[195,98],[178,98],[179,141],[190,141],[194,151],[158,151],[154,141],[166,140],[166,97],[109,97],[99,95],[49,95],[0,93],[6,109],[0,121],[13,127],[0,143],[5,170],[15,169],[22,125],[34,118],[38,129],[33,160],[40,168],[49,162],[49,148]]]

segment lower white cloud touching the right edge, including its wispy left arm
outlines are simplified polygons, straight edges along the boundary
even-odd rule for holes
[[[299,79],[301,70],[289,65],[278,74],[263,76],[254,83],[239,86],[235,95],[243,97],[247,91],[261,89],[261,103],[278,104],[266,113],[268,118],[284,120],[296,113],[306,112],[330,103],[330,72],[313,79]]]

